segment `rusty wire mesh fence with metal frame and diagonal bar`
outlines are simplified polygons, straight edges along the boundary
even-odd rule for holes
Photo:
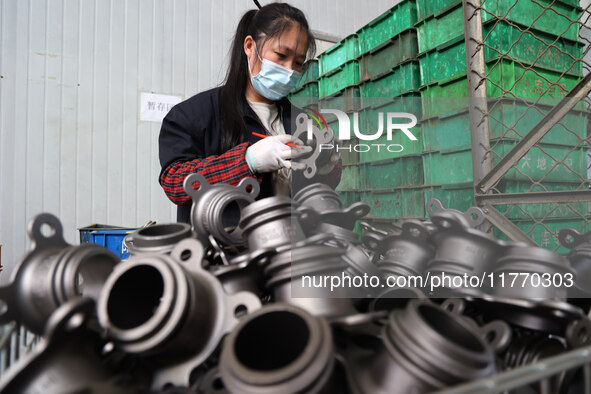
[[[464,1],[470,89],[486,98],[470,108],[483,147],[473,150],[476,199],[500,213],[505,236],[553,250],[561,228],[591,229],[591,6],[581,5]]]

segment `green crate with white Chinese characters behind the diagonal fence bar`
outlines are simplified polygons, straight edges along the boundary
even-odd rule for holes
[[[499,158],[505,156],[515,145],[516,141],[514,140],[493,140],[491,148],[495,152],[494,162],[497,163]],[[560,162],[554,166],[552,159],[544,151]],[[429,152],[425,155],[424,168],[427,184],[454,184],[473,181],[472,151],[470,149]],[[532,147],[519,160],[515,168],[505,174],[504,179],[531,181],[531,178],[534,181],[543,180],[543,182],[582,182],[581,177],[586,178],[586,174],[586,148],[540,144]]]

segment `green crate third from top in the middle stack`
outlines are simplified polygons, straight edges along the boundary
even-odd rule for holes
[[[407,60],[361,84],[361,97],[397,97],[421,86],[419,62]]]

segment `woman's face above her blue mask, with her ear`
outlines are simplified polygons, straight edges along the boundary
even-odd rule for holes
[[[257,45],[257,49],[261,58],[301,72],[308,50],[308,35],[299,25],[292,25],[280,37],[268,39],[262,48]],[[250,62],[251,74],[257,75],[261,71],[261,61],[256,55],[255,42],[251,36],[244,40],[244,52]]]

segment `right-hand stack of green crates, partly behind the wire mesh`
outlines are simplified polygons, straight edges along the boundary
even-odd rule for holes
[[[544,12],[544,7],[549,6],[553,10]],[[487,95],[512,97],[489,101],[489,133],[496,163],[551,108],[539,104],[528,107],[523,100],[513,97],[534,101],[544,94],[539,102],[553,105],[581,79],[582,63],[574,63],[573,59],[581,57],[584,44],[578,41],[578,24],[569,20],[579,18],[581,8],[574,0],[491,0],[484,2],[483,8]],[[473,204],[473,191],[462,2],[418,0],[417,10],[425,182],[447,189],[445,193],[450,198],[446,200],[455,201],[454,208],[466,209]],[[502,15],[506,20],[498,20],[494,15]],[[556,83],[554,88],[547,89],[548,81]],[[510,93],[505,94],[503,89]],[[587,169],[587,149],[581,144],[586,137],[587,113],[577,108],[562,120],[572,132],[556,125],[539,146],[519,161],[519,171],[512,169],[506,174],[497,187],[500,192],[572,190],[581,184],[578,174],[585,176]],[[515,126],[507,131],[503,124]],[[557,158],[558,163],[555,165],[544,152]],[[543,179],[543,187],[532,190],[531,179]],[[583,203],[570,206],[580,213],[587,211]],[[548,207],[525,204],[521,209],[499,209],[507,211],[506,216],[528,232],[535,223],[525,212],[540,218]],[[560,206],[549,216],[558,229],[575,220],[566,206]],[[580,219],[579,222],[582,224]],[[557,246],[554,238],[549,243],[542,240],[543,234],[538,230],[541,231],[537,228],[528,234],[540,244]]]

